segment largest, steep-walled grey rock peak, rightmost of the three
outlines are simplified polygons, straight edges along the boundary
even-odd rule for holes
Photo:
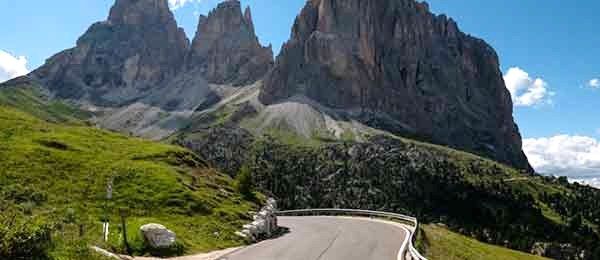
[[[531,171],[496,53],[426,3],[309,0],[260,100],[297,95]]]

